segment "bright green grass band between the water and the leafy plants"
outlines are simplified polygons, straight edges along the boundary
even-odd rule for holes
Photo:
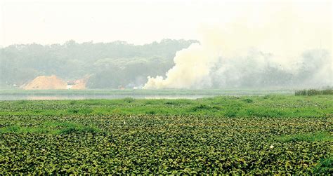
[[[331,95],[219,96],[197,100],[0,101],[0,116],[207,115],[226,117],[322,117],[332,114]],[[296,107],[296,108],[295,108]]]

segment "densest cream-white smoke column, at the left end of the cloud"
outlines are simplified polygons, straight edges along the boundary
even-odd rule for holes
[[[214,36],[207,36],[202,43],[192,43],[188,48],[180,50],[174,57],[175,65],[162,76],[148,76],[144,88],[200,88],[209,79],[211,68],[218,61],[221,43]]]

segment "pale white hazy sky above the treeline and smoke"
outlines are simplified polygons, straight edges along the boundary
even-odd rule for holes
[[[332,42],[330,1],[0,1],[1,46],[70,39],[136,44],[199,39],[202,27],[237,21],[260,26],[274,13],[282,14],[282,21],[318,25]]]

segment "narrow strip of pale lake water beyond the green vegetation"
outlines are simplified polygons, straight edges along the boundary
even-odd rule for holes
[[[0,90],[0,100],[197,99],[221,95],[292,94],[293,90]]]

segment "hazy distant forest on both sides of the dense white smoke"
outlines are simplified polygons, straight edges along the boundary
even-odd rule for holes
[[[198,42],[163,39],[145,45],[125,41],[12,45],[0,48],[0,88],[20,88],[37,76],[51,75],[63,81],[89,78],[86,88],[141,88],[148,76],[165,76],[174,66],[178,50]],[[270,60],[269,54],[250,50],[245,57],[219,60],[209,76],[193,88],[333,86],[332,67],[327,50],[306,50],[285,68]]]

